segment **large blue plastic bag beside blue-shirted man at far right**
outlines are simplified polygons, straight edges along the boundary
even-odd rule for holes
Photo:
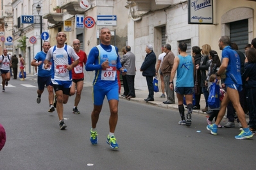
[[[210,109],[215,109],[215,108],[219,108],[219,84],[217,84],[218,79],[216,79],[215,82],[212,83],[212,85],[210,85],[210,93],[209,93],[209,97],[208,97],[208,106],[210,107]]]

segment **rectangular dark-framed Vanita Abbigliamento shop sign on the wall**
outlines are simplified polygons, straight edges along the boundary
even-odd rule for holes
[[[213,24],[213,0],[189,0],[189,24]]]

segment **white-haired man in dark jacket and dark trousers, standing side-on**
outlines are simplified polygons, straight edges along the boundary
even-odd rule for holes
[[[148,98],[144,99],[146,102],[154,101],[154,88],[153,88],[153,77],[155,76],[155,63],[157,63],[157,56],[153,52],[152,45],[146,45],[146,58],[141,65],[140,71],[142,75],[146,77],[148,84]]]

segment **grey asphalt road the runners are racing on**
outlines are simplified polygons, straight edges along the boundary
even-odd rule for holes
[[[119,150],[106,143],[109,132],[107,100],[98,121],[98,145],[90,144],[91,87],[85,87],[73,114],[74,97],[64,105],[66,130],[60,130],[56,111],[47,112],[47,89],[37,104],[37,82],[10,81],[0,92],[0,123],[6,144],[0,169],[254,169],[255,141],[237,140],[237,128],[220,128],[214,136],[205,116],[192,114],[192,125],[178,125],[176,110],[119,101],[115,132]],[[23,85],[22,85],[23,84]],[[28,84],[28,85],[24,85]],[[13,87],[11,87],[13,86]],[[0,87],[1,88],[1,87]]]

